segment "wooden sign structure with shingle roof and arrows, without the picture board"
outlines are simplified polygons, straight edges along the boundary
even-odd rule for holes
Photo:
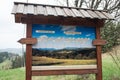
[[[26,44],[26,80],[31,80],[32,76],[64,74],[96,74],[96,80],[102,80],[101,46],[105,45],[106,41],[100,38],[100,28],[103,27],[105,20],[114,19],[106,11],[15,2],[12,13],[15,16],[16,23],[27,24],[26,38],[18,41],[21,44]],[[81,69],[75,67],[68,69],[67,67],[65,69],[61,68],[61,70],[53,68],[49,70],[32,70],[32,45],[37,43],[37,39],[32,38],[32,24],[95,27],[96,39],[93,40],[92,44],[96,46],[97,68]]]

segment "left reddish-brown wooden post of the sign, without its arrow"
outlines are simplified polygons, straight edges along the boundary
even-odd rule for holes
[[[32,24],[27,24],[26,37],[32,37]],[[26,45],[26,80],[32,80],[32,45]]]

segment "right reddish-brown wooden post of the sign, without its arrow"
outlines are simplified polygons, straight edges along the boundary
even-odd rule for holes
[[[100,27],[96,26],[96,39],[100,39]],[[102,80],[102,57],[101,57],[101,45],[96,46],[97,52],[97,70],[96,80]]]

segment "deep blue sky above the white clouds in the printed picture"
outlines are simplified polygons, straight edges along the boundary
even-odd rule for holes
[[[67,27],[67,28],[64,28]],[[36,30],[50,30],[55,31],[54,34],[37,33]],[[81,34],[66,35],[64,31],[80,32]],[[95,39],[95,28],[85,26],[62,26],[62,25],[40,25],[34,24],[32,35],[34,38],[38,38],[41,35],[47,35],[48,37],[74,37],[74,38],[90,38]]]

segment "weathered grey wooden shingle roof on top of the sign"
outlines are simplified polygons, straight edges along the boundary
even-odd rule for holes
[[[73,18],[90,18],[90,19],[114,19],[106,11],[83,9],[75,7],[63,7],[53,5],[42,5],[32,3],[15,2],[12,14],[22,15],[43,15],[55,17],[73,17]]]

